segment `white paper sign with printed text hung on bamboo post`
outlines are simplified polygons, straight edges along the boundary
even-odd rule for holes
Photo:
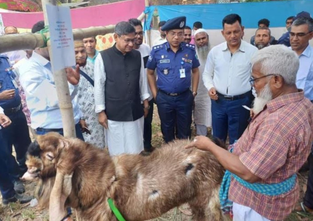
[[[59,71],[76,64],[69,7],[47,5],[52,68]]]

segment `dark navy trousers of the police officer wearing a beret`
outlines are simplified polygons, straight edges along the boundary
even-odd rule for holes
[[[166,143],[175,139],[175,125],[177,125],[178,139],[190,138],[193,98],[191,91],[184,92],[176,97],[169,96],[161,91],[157,93],[156,105]]]

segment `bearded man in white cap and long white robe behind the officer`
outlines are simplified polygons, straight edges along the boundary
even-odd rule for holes
[[[194,121],[197,128],[197,135],[206,136],[208,127],[212,127],[211,99],[208,96],[208,90],[204,86],[202,73],[204,71],[205,62],[207,61],[210,51],[209,36],[204,29],[197,29],[194,33],[196,52],[200,62],[198,95],[195,97]]]

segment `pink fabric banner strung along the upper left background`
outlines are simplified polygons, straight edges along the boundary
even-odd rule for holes
[[[129,0],[104,5],[71,9],[72,27],[88,28],[90,26],[105,26],[137,18],[145,9],[144,0]],[[44,20],[42,12],[0,12],[4,26],[31,29],[33,24]]]

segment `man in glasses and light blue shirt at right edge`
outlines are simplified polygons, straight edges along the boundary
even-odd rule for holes
[[[298,18],[290,30],[290,45],[299,56],[300,66],[296,85],[304,90],[304,95],[313,101],[313,47],[309,40],[313,38],[313,19]]]

